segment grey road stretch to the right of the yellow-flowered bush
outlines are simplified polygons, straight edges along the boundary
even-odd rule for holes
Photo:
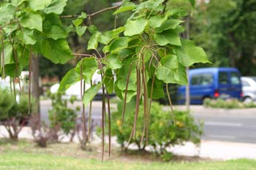
[[[204,121],[203,139],[256,143],[256,112],[253,116],[202,115],[195,114]]]

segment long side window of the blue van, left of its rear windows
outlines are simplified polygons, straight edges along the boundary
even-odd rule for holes
[[[213,82],[213,74],[197,74],[193,75],[191,79],[191,85],[211,85]]]

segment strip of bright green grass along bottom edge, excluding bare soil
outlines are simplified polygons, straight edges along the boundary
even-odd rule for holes
[[[105,161],[102,163],[96,159],[81,159],[50,154],[35,154],[20,151],[1,152],[0,169],[12,170],[77,170],[77,169],[233,169],[245,170],[256,169],[256,161],[215,161],[215,162],[194,162],[194,163],[130,163],[118,161]]]

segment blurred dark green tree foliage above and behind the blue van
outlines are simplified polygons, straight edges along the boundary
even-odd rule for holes
[[[213,63],[208,66],[235,66],[243,75],[256,75],[256,1],[200,1],[191,29]]]

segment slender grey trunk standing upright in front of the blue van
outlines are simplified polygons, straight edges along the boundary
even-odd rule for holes
[[[189,39],[189,20],[190,17],[187,17],[186,20],[186,34],[185,34],[185,38]],[[189,105],[190,105],[190,90],[189,90],[189,67],[186,68],[186,72],[187,72],[187,86],[186,86],[186,107],[187,110],[189,111]]]

